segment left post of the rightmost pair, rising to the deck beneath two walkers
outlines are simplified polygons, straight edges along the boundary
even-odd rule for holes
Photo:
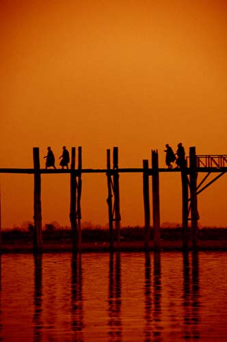
[[[188,248],[188,179],[187,170],[181,170],[181,185],[182,185],[182,246],[183,250]]]

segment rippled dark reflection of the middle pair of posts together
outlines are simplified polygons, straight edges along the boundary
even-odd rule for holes
[[[114,264],[114,257],[116,257]],[[114,267],[115,266],[115,267]],[[109,341],[122,341],[120,252],[109,254]]]

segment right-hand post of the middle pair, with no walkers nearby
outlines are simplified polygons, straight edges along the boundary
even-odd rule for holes
[[[114,147],[114,205],[115,205],[115,228],[118,248],[120,247],[120,195],[118,174],[118,147]]]

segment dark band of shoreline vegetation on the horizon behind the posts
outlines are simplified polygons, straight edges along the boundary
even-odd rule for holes
[[[161,239],[164,241],[181,241],[182,228],[161,228]],[[42,239],[45,243],[58,242],[70,244],[72,232],[70,228],[44,229]],[[144,228],[140,226],[122,227],[120,229],[122,241],[144,241]],[[33,231],[21,228],[5,229],[1,232],[2,244],[29,243],[33,240]],[[153,230],[150,230],[150,240],[153,239]],[[200,241],[227,241],[227,228],[204,227],[198,230]],[[191,240],[191,228],[189,228]],[[109,242],[109,230],[106,228],[83,228],[83,242]]]

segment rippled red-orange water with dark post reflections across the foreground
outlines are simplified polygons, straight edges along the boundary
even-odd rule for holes
[[[1,256],[1,341],[227,341],[227,253]]]

